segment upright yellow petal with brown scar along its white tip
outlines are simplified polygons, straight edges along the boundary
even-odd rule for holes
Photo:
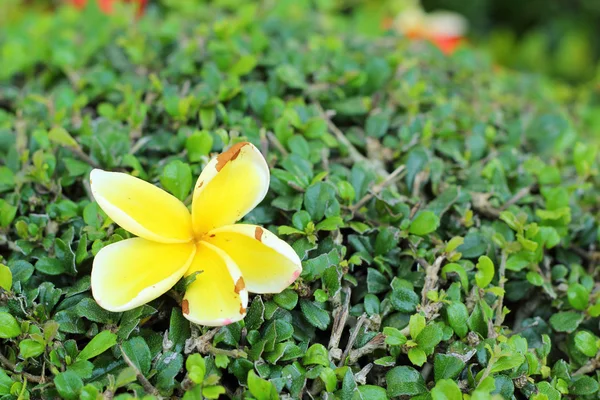
[[[251,143],[237,143],[204,168],[194,189],[192,220],[197,235],[240,220],[264,199],[269,166]]]

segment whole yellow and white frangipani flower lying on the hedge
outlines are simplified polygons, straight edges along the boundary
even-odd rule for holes
[[[268,230],[235,224],[267,194],[269,167],[251,143],[237,143],[204,168],[192,212],[158,187],[94,169],[94,198],[108,216],[138,236],[104,247],[92,267],[92,293],[109,311],[159,297],[196,272],[182,301],[197,324],[227,325],[246,315],[248,292],[279,293],[300,275],[298,255]]]

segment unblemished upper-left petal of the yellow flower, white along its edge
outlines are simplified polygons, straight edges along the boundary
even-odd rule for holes
[[[161,243],[192,239],[188,209],[164,190],[131,175],[94,169],[92,194],[98,205],[123,229]]]

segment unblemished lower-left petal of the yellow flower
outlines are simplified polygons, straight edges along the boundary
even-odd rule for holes
[[[92,294],[109,311],[126,311],[156,299],[188,269],[193,243],[164,244],[142,238],[104,247],[94,258]]]

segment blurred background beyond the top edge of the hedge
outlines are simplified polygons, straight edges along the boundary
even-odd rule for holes
[[[110,13],[120,0],[1,0],[0,24],[18,24],[27,10],[51,11],[63,3],[84,8],[88,2]],[[198,6],[205,2],[239,4],[235,0],[128,2],[134,3],[132,7],[139,15],[170,9],[201,10]],[[498,65],[543,73],[574,85],[597,81],[600,74],[600,0],[262,0],[254,3],[265,7],[281,3],[318,9],[341,29],[363,35],[406,30],[408,25],[408,31],[403,33],[419,36],[415,31],[417,25],[423,25],[423,16],[445,11],[446,17],[450,15],[450,25],[459,20],[461,43],[468,42],[488,52]],[[408,22],[399,23],[403,18]],[[447,23],[448,18],[440,18],[426,29],[444,30]],[[449,49],[444,46],[441,46],[444,50],[454,49],[454,45]]]

